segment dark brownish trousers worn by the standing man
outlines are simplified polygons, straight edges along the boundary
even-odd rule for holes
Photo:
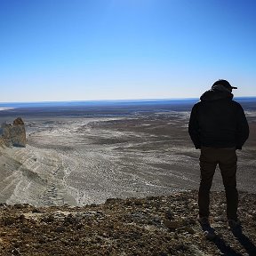
[[[201,148],[201,180],[198,192],[199,216],[209,217],[210,189],[219,164],[227,199],[228,220],[237,219],[238,193],[236,189],[236,148]]]

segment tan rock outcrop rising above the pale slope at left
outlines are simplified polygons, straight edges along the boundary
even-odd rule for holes
[[[13,124],[2,124],[2,137],[0,144],[4,144],[8,148],[26,147],[26,129],[23,120],[18,117]],[[2,143],[1,143],[2,142]]]

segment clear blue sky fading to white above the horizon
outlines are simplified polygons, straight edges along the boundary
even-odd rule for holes
[[[254,0],[0,0],[0,102],[256,96]]]

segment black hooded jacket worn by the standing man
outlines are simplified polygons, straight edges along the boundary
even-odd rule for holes
[[[196,148],[242,149],[249,126],[244,109],[232,99],[231,92],[213,88],[194,105],[188,132]]]

